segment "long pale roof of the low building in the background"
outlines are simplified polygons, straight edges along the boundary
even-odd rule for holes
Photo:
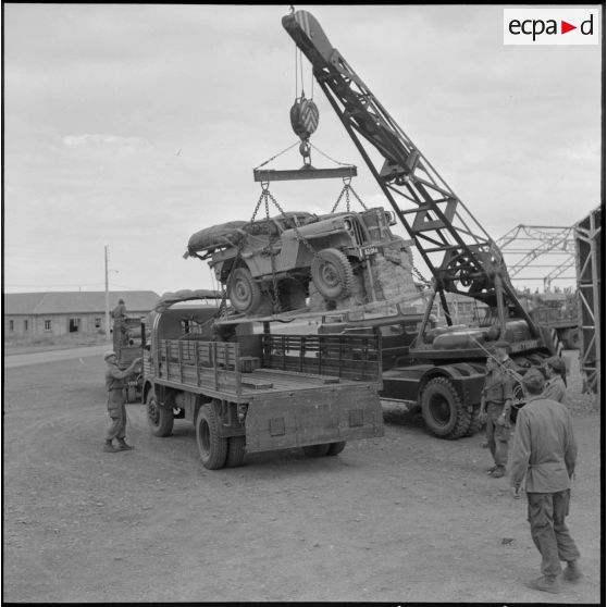
[[[5,293],[3,313],[8,314],[67,314],[106,312],[104,290],[71,290],[46,293]],[[153,290],[111,290],[110,310],[124,299],[126,313],[147,313],[159,299]]]

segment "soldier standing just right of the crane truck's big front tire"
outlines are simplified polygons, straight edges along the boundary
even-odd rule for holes
[[[486,421],[487,446],[494,466],[487,474],[500,479],[506,474],[508,462],[508,439],[510,438],[510,407],[512,406],[512,377],[507,372],[509,363],[508,343],[497,342],[496,358],[487,358],[487,374],[481,395],[481,422]],[[506,359],[504,358],[506,355]],[[499,358],[501,361],[498,362]],[[496,360],[498,359],[498,360]]]

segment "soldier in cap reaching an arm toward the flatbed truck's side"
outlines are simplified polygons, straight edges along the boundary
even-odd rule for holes
[[[108,391],[108,413],[112,419],[112,425],[108,429],[106,435],[106,444],[103,450],[107,453],[124,451],[132,449],[126,444],[126,407],[124,402],[124,380],[128,377],[135,368],[141,362],[141,358],[136,358],[124,371],[117,366],[117,356],[114,351],[108,351],[103,355],[107,362],[106,369],[106,389]],[[117,447],[114,447],[112,441],[116,438]]]

